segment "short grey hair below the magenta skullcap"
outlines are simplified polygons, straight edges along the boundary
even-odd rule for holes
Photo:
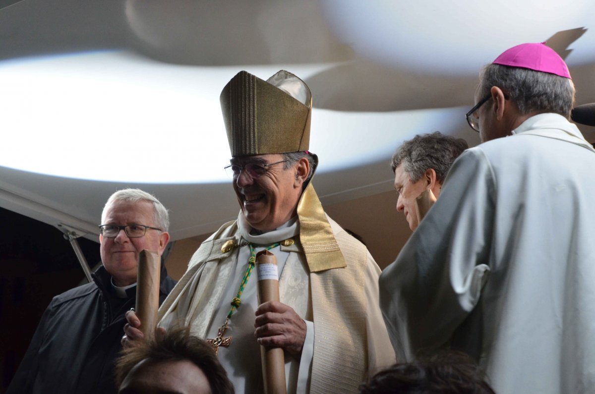
[[[487,64],[480,73],[480,98],[490,94],[492,86],[510,96],[522,115],[553,112],[568,119],[574,107],[574,83],[555,74]]]

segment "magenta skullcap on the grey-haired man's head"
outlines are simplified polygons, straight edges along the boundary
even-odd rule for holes
[[[528,68],[570,79],[570,72],[564,60],[545,44],[545,42],[535,42],[513,46],[497,57],[493,64]]]

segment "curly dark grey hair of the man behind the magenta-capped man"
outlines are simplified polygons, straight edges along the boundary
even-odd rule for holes
[[[411,182],[417,182],[424,176],[425,171],[433,168],[436,171],[436,179],[441,184],[455,159],[467,148],[469,146],[462,138],[445,136],[440,132],[420,134],[397,148],[390,167],[394,173],[397,167],[403,164],[403,170]]]

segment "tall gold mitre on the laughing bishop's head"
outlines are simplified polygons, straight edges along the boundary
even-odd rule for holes
[[[312,95],[292,73],[264,81],[240,71],[220,101],[232,157],[308,150]]]

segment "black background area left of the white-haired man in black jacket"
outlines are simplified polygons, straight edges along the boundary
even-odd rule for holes
[[[4,392],[52,297],[87,282],[60,230],[0,208],[0,392]],[[79,238],[91,267],[99,243]]]

